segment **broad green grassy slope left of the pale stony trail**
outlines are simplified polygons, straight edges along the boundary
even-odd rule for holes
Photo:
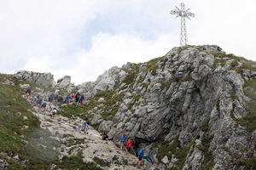
[[[15,85],[4,85],[10,80]],[[24,93],[18,85],[25,81],[15,80],[7,75],[0,75],[0,151],[7,155],[19,156],[25,164],[9,160],[12,169],[47,169],[57,158],[53,150],[59,144],[50,138],[47,130],[39,127],[39,121],[32,115],[32,105],[21,95]]]

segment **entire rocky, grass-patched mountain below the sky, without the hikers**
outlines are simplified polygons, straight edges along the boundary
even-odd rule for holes
[[[68,76],[54,82],[50,73],[32,71],[1,75],[0,82],[0,169],[139,169],[143,147],[154,159],[145,161],[151,170],[256,169],[256,62],[218,46],[173,48],[78,86]],[[44,111],[21,97],[27,88],[47,102]],[[48,101],[77,92],[80,105]],[[89,134],[76,131],[84,118]],[[113,140],[103,142],[99,133]],[[122,133],[133,140],[130,152],[119,150]]]

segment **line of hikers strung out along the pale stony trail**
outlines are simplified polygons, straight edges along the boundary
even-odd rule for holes
[[[25,98],[29,99],[30,97],[31,97],[31,90],[26,89]],[[79,92],[76,94],[73,94],[73,95],[67,94],[65,100],[63,100],[61,95],[53,93],[53,94],[49,95],[48,101],[51,103],[54,102],[54,103],[60,103],[60,104],[63,104],[63,103],[82,104],[83,99],[84,99],[84,95],[79,94]],[[39,95],[31,98],[31,100],[32,100],[33,105],[38,105],[38,107],[40,107],[42,111],[45,110],[47,103]],[[57,113],[57,109],[54,107],[51,111],[51,117],[55,117],[56,113]],[[88,134],[89,129],[90,129],[89,122],[87,119],[84,119],[79,123],[79,126],[77,127],[76,130],[79,131],[80,133],[84,132],[85,134]],[[107,141],[113,140],[113,138],[108,137],[108,133],[106,133],[106,132],[102,133],[101,136],[102,136],[102,140],[107,140]],[[142,149],[138,150],[138,152],[136,154],[136,152],[132,149],[133,141],[134,141],[133,139],[128,138],[127,134],[122,133],[122,135],[120,136],[120,140],[119,140],[120,150],[123,150],[125,148],[126,153],[131,152],[131,150],[132,150],[133,154],[135,154],[138,157],[137,167],[139,167],[139,168],[143,167],[143,169],[145,169],[144,160],[154,164],[153,159],[151,158],[151,156],[149,156],[147,150],[144,147]]]

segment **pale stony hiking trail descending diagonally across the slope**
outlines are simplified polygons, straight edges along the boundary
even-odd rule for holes
[[[52,105],[48,103],[48,105]],[[113,141],[102,140],[100,133],[90,126],[88,134],[79,132],[77,127],[81,119],[70,119],[64,116],[56,115],[54,118],[50,116],[49,111],[41,111],[38,106],[34,106],[41,127],[49,129],[54,138],[61,143],[58,150],[61,156],[77,156],[83,157],[84,161],[96,161],[106,170],[136,170],[137,156],[120,150]]]

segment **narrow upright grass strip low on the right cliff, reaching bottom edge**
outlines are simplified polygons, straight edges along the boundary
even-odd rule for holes
[[[201,145],[196,146],[198,149],[204,152],[204,156],[205,156],[204,161],[201,163],[200,170],[211,170],[212,167],[214,166],[214,161],[213,161],[214,157],[212,155],[212,151],[209,150],[212,139],[213,139],[213,135],[204,136],[201,139]]]

